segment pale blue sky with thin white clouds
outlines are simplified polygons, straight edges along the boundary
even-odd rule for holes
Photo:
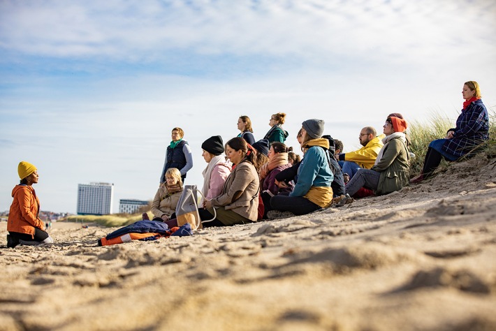
[[[453,119],[467,80],[496,111],[496,1],[0,0],[0,212],[17,164],[38,168],[41,209],[76,212],[78,184],[152,200],[170,131],[201,143],[255,138],[286,113],[286,145],[310,118],[360,147],[388,114]],[[300,153],[301,154],[301,153]]]

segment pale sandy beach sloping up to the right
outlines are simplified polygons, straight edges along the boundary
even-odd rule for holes
[[[43,197],[41,197],[43,199]],[[496,159],[305,216],[6,249],[0,330],[496,330]]]

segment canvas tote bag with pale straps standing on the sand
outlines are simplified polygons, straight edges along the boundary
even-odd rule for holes
[[[184,226],[189,223],[193,230],[203,228],[200,214],[198,214],[198,193],[203,196],[201,191],[198,191],[196,185],[184,185],[182,194],[175,207],[175,216],[177,218],[177,226]],[[205,198],[203,196],[203,198]],[[205,220],[203,223],[213,221],[217,217],[217,212],[214,208],[214,218]]]

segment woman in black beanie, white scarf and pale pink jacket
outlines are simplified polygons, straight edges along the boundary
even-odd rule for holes
[[[201,193],[205,200],[211,200],[219,196],[226,182],[226,178],[231,173],[231,164],[226,162],[224,156],[224,142],[220,135],[213,135],[203,142],[203,159],[208,163],[207,168],[203,170],[203,188]]]

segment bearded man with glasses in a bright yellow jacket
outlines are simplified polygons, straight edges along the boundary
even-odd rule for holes
[[[360,168],[370,169],[377,159],[377,154],[382,148],[381,138],[377,137],[377,131],[372,126],[365,126],[360,131],[358,140],[362,147],[353,152],[341,153],[339,155],[340,167],[343,172],[352,178]]]

